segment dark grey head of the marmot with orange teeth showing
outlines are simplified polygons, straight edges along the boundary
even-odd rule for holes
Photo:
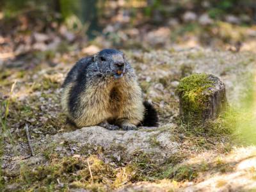
[[[114,77],[120,79],[128,72],[132,72],[132,67],[124,58],[124,53],[115,49],[103,49],[92,56],[93,63],[88,70],[93,70],[90,74],[97,77]],[[92,66],[93,65],[93,66]],[[95,76],[94,76],[95,77]]]

